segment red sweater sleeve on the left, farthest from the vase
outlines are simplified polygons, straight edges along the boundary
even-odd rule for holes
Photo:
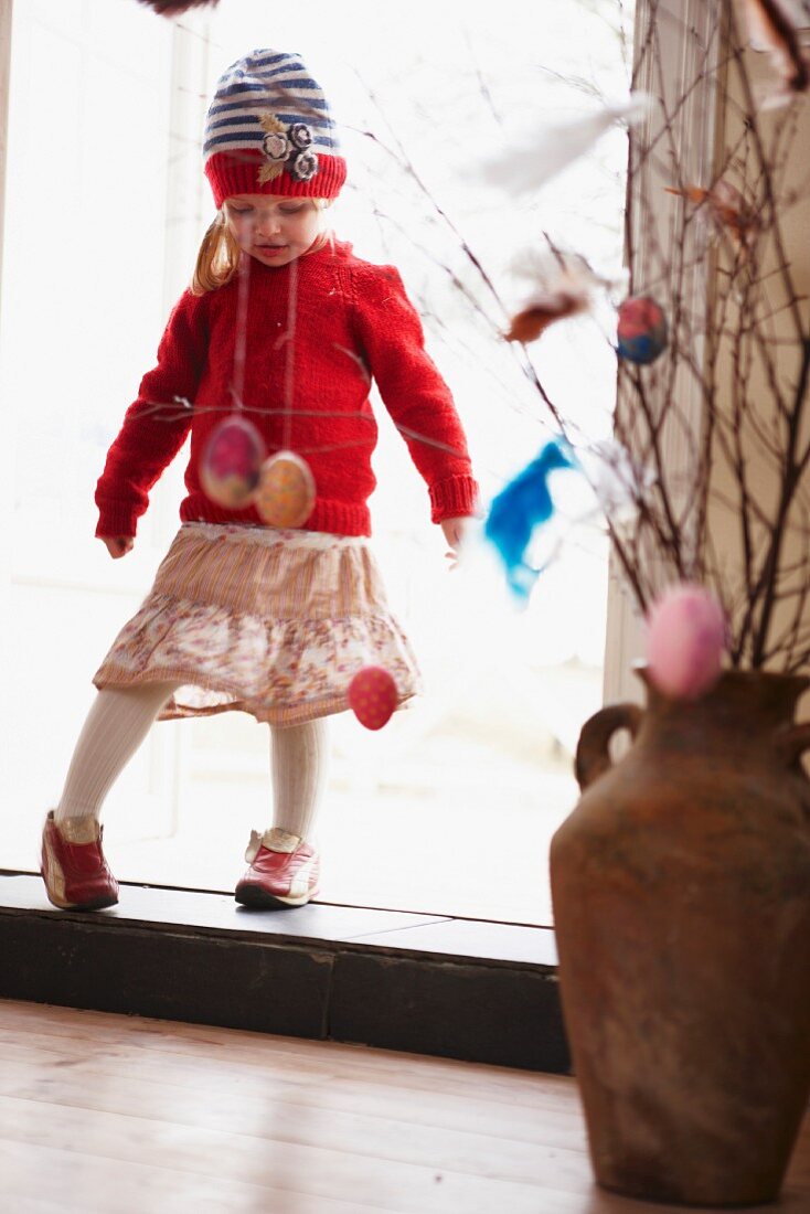
[[[169,466],[192,422],[193,401],[205,364],[206,327],[202,302],[186,291],[169,317],[158,365],[141,380],[137,399],[109,452],[96,486],[96,535],[135,535],[149,490]]]

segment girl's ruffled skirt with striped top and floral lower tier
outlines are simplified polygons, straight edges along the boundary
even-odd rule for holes
[[[183,523],[94,682],[180,682],[164,720],[240,709],[299,725],[349,708],[367,665],[392,675],[400,704],[420,690],[364,539]]]

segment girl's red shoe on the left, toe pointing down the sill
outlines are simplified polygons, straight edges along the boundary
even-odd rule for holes
[[[43,829],[41,873],[49,900],[61,910],[102,910],[118,902],[118,881],[101,850],[95,818],[68,818],[57,827],[53,811]]]

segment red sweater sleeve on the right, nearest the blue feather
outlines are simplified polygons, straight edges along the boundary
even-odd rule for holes
[[[430,494],[431,520],[475,512],[478,487],[451,391],[425,350],[421,322],[393,266],[352,267],[369,369]]]

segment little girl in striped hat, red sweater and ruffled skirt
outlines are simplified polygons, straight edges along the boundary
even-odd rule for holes
[[[94,679],[98,696],[45,823],[43,877],[62,908],[118,901],[101,807],[155,717],[227,709],[267,721],[272,751],[273,823],[254,833],[237,901],[302,906],[317,894],[324,717],[347,708],[349,685],[369,664],[392,675],[400,704],[418,687],[366,539],[372,376],[451,549],[476,503],[451,393],[398,273],[324,233],[346,164],[298,55],[254,51],[225,73],[204,160],[219,215],[96,490],[96,535],[118,558],[191,431],[182,526]],[[304,527],[266,526],[254,505],[228,509],[203,492],[211,433],[234,410],[267,454],[289,448],[308,464],[316,495]]]

